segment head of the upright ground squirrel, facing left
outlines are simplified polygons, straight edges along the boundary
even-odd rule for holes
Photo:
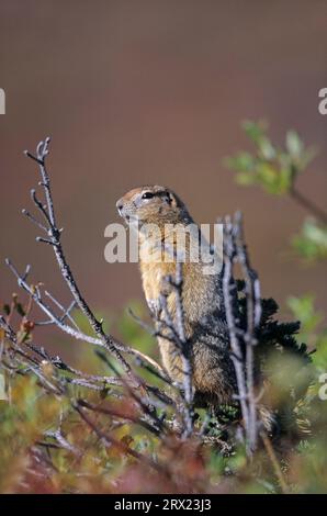
[[[166,187],[134,188],[117,202],[120,215],[129,224],[190,223],[191,217],[183,202]]]

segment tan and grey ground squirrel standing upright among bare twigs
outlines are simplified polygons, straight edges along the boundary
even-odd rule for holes
[[[187,229],[192,226],[196,233],[198,226],[184,203],[165,187],[135,188],[117,201],[116,207],[120,215],[128,223],[131,231],[136,228],[138,232],[143,289],[156,325],[161,327],[160,296],[167,289],[167,277],[173,278],[177,271],[178,256],[171,256],[171,251],[176,253],[177,247],[176,227]],[[145,227],[147,231],[144,231]],[[159,236],[156,228],[159,229]],[[198,233],[201,237],[200,228]],[[222,274],[207,271],[207,259],[203,260],[201,256],[198,261],[190,259],[196,238],[191,239],[188,231],[185,235],[185,259],[181,265],[181,298],[195,391],[194,402],[198,406],[214,407],[230,403],[233,394],[237,393],[224,315]],[[158,246],[158,242],[161,246]],[[167,309],[174,321],[176,292],[173,290],[166,292],[166,299]],[[172,381],[181,382],[183,368],[181,354],[176,349],[177,345],[162,335],[158,337],[158,344],[166,371]]]

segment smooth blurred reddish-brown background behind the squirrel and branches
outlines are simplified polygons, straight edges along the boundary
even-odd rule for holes
[[[50,135],[63,243],[92,307],[120,314],[142,299],[137,266],[105,262],[103,233],[119,222],[115,201],[149,182],[176,190],[201,223],[243,210],[263,294],[283,307],[313,292],[326,311],[326,266],[290,254],[304,210],[238,187],[223,166],[250,148],[244,119],[267,119],[278,143],[295,128],[319,149],[298,189],[326,207],[326,20],[319,0],[1,0],[0,301],[18,289],[5,256],[68,299],[52,249],[21,215],[38,181],[23,149]]]

